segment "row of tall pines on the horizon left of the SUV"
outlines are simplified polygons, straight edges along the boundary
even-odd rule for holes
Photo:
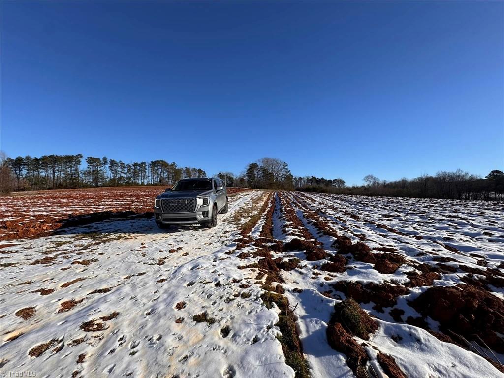
[[[76,155],[9,158],[2,155],[2,191],[69,189],[90,186],[170,185],[186,177],[206,177],[201,168],[178,167],[164,160],[124,163]],[[81,169],[82,167],[82,169]]]

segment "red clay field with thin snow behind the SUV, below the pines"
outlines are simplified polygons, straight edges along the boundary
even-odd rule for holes
[[[15,193],[2,197],[2,240],[44,236],[61,227],[110,218],[152,216],[153,199],[166,186],[119,186]],[[229,187],[228,194],[246,188]]]

